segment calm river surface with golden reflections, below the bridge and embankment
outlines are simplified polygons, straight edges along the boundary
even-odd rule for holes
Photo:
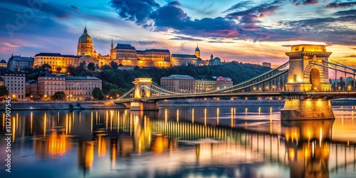
[[[16,112],[21,171],[11,176],[347,177],[356,173],[355,140],[342,129],[355,128],[354,110],[282,123],[270,107]]]

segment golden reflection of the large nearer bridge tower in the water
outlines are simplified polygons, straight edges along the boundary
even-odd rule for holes
[[[285,122],[290,177],[329,177],[330,140],[334,120]]]

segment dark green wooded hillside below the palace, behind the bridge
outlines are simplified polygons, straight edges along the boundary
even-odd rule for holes
[[[243,63],[224,63],[220,66],[177,66],[172,68],[149,68],[137,70],[102,70],[100,73],[93,73],[95,77],[103,80],[103,91],[108,93],[110,89],[117,90],[120,93],[133,87],[132,81],[139,77],[152,78],[155,83],[159,84],[160,78],[164,76],[179,74],[190,75],[196,79],[213,80],[212,76],[223,76],[231,78],[234,82],[253,78],[256,75],[265,73],[271,68]]]

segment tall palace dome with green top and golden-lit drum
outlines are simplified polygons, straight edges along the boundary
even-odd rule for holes
[[[93,56],[93,39],[88,35],[85,26],[83,35],[78,39],[77,56]]]

